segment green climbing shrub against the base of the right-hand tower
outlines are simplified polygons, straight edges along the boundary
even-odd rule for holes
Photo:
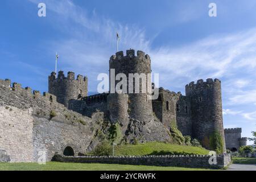
[[[216,130],[210,135],[210,150],[216,151],[217,154],[223,154],[224,141],[221,134]]]

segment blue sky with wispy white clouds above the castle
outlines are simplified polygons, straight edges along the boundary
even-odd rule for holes
[[[38,16],[38,3],[47,16]],[[209,3],[217,17],[208,15]],[[225,127],[242,127],[243,137],[256,130],[256,1],[79,1],[2,0],[0,2],[0,78],[10,78],[41,92],[55,69],[89,78],[108,73],[119,49],[151,56],[160,86],[184,94],[200,78],[222,81]]]

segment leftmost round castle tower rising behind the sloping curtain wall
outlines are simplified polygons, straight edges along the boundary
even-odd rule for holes
[[[48,77],[48,92],[57,97],[57,102],[68,107],[68,101],[87,96],[88,78],[78,75],[75,79],[75,73],[68,72],[65,77],[63,71],[60,71],[57,78],[56,73],[52,72]]]

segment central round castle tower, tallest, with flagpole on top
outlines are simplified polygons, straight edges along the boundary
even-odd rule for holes
[[[137,119],[138,121],[147,122],[151,119],[152,116],[152,102],[149,99],[149,92],[142,92],[143,83],[148,86],[148,82],[151,85],[151,76],[149,77],[147,74],[151,73],[151,60],[148,55],[145,55],[144,52],[138,51],[137,56],[135,56],[135,51],[133,49],[126,51],[126,56],[123,55],[123,52],[117,52],[115,55],[110,57],[109,61],[110,75],[111,70],[114,69],[114,77],[118,75],[118,73],[124,73],[127,77],[127,92],[129,92],[129,82],[133,80],[133,85],[130,86],[130,90],[135,91],[135,79],[129,79],[129,74],[138,73],[140,76],[141,73],[144,73],[144,79],[140,78],[140,88],[139,93],[110,93],[109,95],[109,111],[110,118],[115,118],[112,122],[124,121],[125,118],[129,115],[132,119]],[[148,80],[150,79],[150,80]],[[115,86],[118,81],[111,81],[110,77],[110,85],[111,82],[115,82]],[[141,81],[143,80],[143,81]],[[138,83],[138,82],[137,82]],[[116,90],[115,90],[116,91]],[[148,90],[147,90],[148,91]],[[118,101],[114,101],[117,98]],[[114,114],[114,115],[113,115]],[[121,121],[120,121],[121,120]]]

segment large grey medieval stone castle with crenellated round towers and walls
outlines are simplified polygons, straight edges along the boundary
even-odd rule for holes
[[[121,51],[110,57],[109,68],[127,77],[147,74],[151,59],[130,49],[126,55]],[[48,77],[48,93],[43,96],[20,84],[11,85],[10,80],[0,80],[0,93],[0,156],[11,162],[34,162],[40,154],[51,160],[56,152],[84,154],[102,141],[111,125],[118,125],[119,143],[171,141],[172,125],[205,148],[214,131],[225,138],[218,79],[191,82],[185,86],[185,96],[159,88],[158,99],[150,100],[151,93],[88,96],[87,77],[75,78],[73,72],[65,77],[60,71]]]

